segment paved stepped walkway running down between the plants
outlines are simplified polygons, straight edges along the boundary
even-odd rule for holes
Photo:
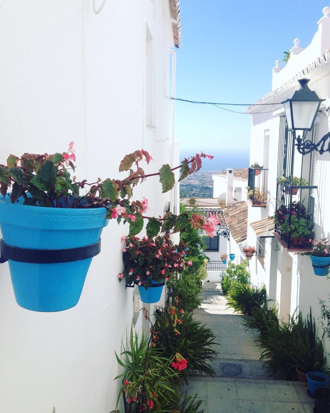
[[[313,412],[307,383],[268,378],[254,343],[255,331],[245,332],[242,316],[226,309],[220,283],[205,282],[201,299],[194,317],[213,331],[220,344],[215,346],[218,354],[213,361],[216,377],[191,376],[184,390],[205,400],[205,413]]]

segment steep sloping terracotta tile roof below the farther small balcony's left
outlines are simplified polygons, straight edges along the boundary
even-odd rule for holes
[[[247,203],[245,201],[228,205],[222,210],[231,236],[236,242],[247,238]]]

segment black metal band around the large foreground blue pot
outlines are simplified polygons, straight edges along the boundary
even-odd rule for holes
[[[92,258],[101,251],[101,240],[85,247],[66,249],[30,249],[12,247],[0,241],[0,264],[8,260],[31,264],[55,264]]]

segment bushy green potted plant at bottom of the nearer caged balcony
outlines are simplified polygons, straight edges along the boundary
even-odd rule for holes
[[[281,233],[290,233],[290,242],[292,245],[304,246],[308,244],[307,238],[310,237],[313,225],[307,223],[306,218],[297,218],[297,213],[292,211],[291,223],[289,225],[289,215],[283,216],[281,224]]]

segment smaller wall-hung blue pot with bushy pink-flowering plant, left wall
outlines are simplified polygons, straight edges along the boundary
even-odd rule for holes
[[[186,244],[174,245],[170,236],[155,238],[123,237],[123,273],[117,275],[119,281],[139,287],[141,301],[159,301],[165,281],[191,266],[192,261],[184,260]]]

